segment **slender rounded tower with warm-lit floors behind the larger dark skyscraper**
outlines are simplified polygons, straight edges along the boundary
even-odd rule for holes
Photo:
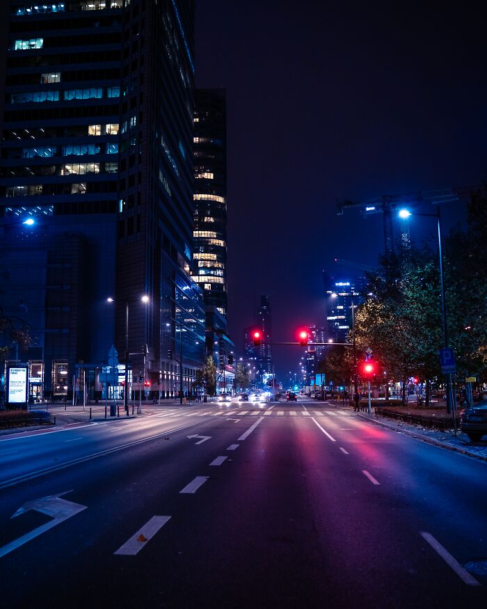
[[[224,89],[196,90],[195,276],[205,304],[227,315],[227,170]]]

